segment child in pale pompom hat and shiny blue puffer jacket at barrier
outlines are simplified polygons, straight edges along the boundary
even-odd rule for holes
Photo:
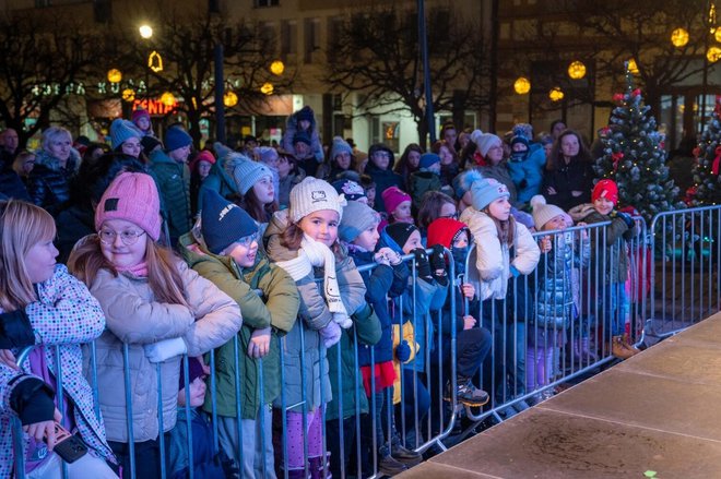
[[[546,204],[542,195],[531,199],[533,220],[539,231],[563,231],[567,228],[566,212],[556,205]],[[579,226],[583,226],[579,223]],[[554,376],[556,355],[566,342],[566,332],[571,321],[578,318],[574,303],[574,267],[587,267],[591,254],[588,233],[557,232],[542,236],[539,240],[541,261],[535,272],[535,311],[530,315],[528,350],[525,354],[525,387],[528,391],[547,385]],[[574,340],[574,350],[582,347],[590,359],[588,333]]]

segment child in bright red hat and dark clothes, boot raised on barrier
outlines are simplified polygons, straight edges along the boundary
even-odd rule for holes
[[[452,255],[456,276],[460,278],[456,292],[456,318],[450,316],[449,298],[444,306],[441,324],[436,324],[441,332],[444,355],[440,366],[444,376],[450,374],[450,340],[452,330],[456,330],[456,391],[451,390],[452,382],[449,379],[444,387],[444,399],[451,400],[451,395],[454,394],[459,403],[480,407],[488,402],[488,394],[475,387],[473,378],[490,351],[493,339],[488,330],[478,326],[477,320],[471,314],[472,311],[478,310],[478,306],[475,288],[472,284],[464,283],[470,240],[468,226],[453,218],[438,218],[428,227],[428,248],[437,244],[447,248]],[[470,301],[468,310],[465,299]],[[437,315],[434,314],[433,318],[436,319]],[[437,358],[438,355],[432,355],[432,360],[437,361]]]

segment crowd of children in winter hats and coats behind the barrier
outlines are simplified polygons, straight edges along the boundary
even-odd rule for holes
[[[114,123],[121,154],[153,139],[145,120]],[[0,477],[14,417],[29,477],[60,470],[56,422],[88,450],[70,477],[393,476],[444,429],[448,407],[432,404],[522,410],[566,343],[571,361],[595,360],[596,331],[615,356],[637,352],[624,338],[637,231],[613,181],[568,213],[547,204],[523,128],[507,159],[474,133],[468,168],[440,144],[394,170],[379,144],[359,175],[340,137],[324,160],[312,110],[292,120],[284,148],[215,144],[190,175],[190,137],[169,129],[150,168],[95,192],[94,232],[67,267],[49,213],[0,202]],[[589,268],[596,324],[578,298]]]

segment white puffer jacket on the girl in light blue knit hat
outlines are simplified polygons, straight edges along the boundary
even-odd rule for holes
[[[500,244],[496,224],[488,215],[471,206],[461,213],[460,220],[469,226],[476,244],[474,248],[476,267],[471,267],[466,272],[469,283],[474,284],[481,301],[488,298],[505,299],[511,267],[522,275],[533,273],[541,256],[539,246],[528,228],[515,221],[516,251],[511,262],[510,249],[508,244]]]

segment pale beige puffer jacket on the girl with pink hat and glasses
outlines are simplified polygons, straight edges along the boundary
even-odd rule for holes
[[[128,442],[126,424],[126,380],[123,346],[128,347],[132,385],[134,441],[157,439],[157,373],[163,391],[164,432],[175,426],[181,357],[154,364],[145,357],[144,345],[182,337],[188,356],[200,356],[233,338],[243,321],[238,304],[208,279],[178,261],[186,301],[170,304],[155,300],[147,278],[107,270],[98,272],[91,292],[103,307],[107,330],[96,340],[101,410],[108,440]]]

